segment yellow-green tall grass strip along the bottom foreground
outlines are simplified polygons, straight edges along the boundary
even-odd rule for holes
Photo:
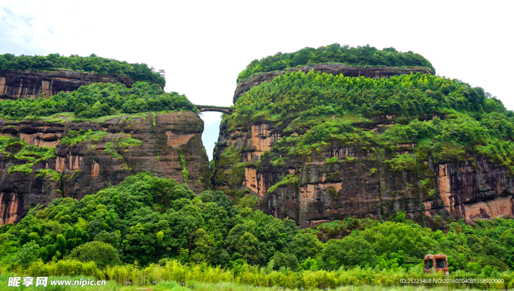
[[[252,288],[283,287],[284,289],[337,289],[348,286],[379,286],[393,287],[405,285],[401,279],[441,279],[446,277],[439,274],[425,275],[421,266],[405,271],[401,268],[396,270],[378,270],[375,268],[339,269],[335,271],[299,271],[294,272],[286,269],[279,271],[270,270],[250,265],[236,265],[232,269],[223,269],[219,266],[213,267],[207,264],[182,265],[178,261],[168,261],[166,265],[152,264],[146,268],[140,268],[137,264],[106,267],[100,270],[94,263],[81,263],[78,261],[58,261],[42,263],[34,262],[27,268],[14,267],[6,269],[0,266],[0,274],[17,274],[18,276],[30,277],[77,277],[83,275],[95,280],[108,280],[110,283],[119,286],[151,286],[152,282],[182,282],[186,285],[207,284],[206,290],[210,290],[212,284],[240,284],[252,286]],[[483,289],[512,289],[514,287],[514,272],[506,271],[498,274],[503,283],[491,284],[444,284],[447,288],[475,287]],[[12,276],[11,276],[12,277]],[[458,270],[452,273],[450,279],[485,279],[483,275],[476,275],[470,272]],[[127,284],[130,282],[130,284]],[[205,285],[205,286],[207,286]],[[438,287],[443,284],[422,284],[421,286]],[[225,286],[225,285],[223,285]],[[231,289],[231,288],[228,288]],[[216,289],[218,290],[218,289]],[[260,289],[262,290],[262,289]]]

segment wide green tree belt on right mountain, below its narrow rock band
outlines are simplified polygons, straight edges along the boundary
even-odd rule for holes
[[[410,74],[391,78],[334,76],[320,72],[286,72],[270,82],[254,86],[239,97],[234,114],[226,117],[233,122],[262,119],[293,120],[343,114],[363,117],[395,114],[402,116],[437,114],[454,110],[469,113],[493,113],[488,123],[500,126],[502,102],[480,87],[456,79]],[[455,114],[455,113],[454,113]],[[473,115],[475,116],[475,115]],[[348,120],[352,123],[358,120]],[[365,120],[363,120],[365,121]],[[496,133],[507,133],[502,128]]]

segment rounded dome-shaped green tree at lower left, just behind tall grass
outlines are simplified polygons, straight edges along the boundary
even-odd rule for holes
[[[120,263],[116,249],[111,244],[98,241],[74,248],[67,258],[77,259],[81,262],[94,262],[99,268]]]

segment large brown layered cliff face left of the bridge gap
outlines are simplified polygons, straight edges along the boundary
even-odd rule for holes
[[[104,131],[106,135],[97,141],[61,144],[68,130],[80,129]],[[29,207],[48,205],[58,197],[81,199],[142,171],[173,178],[179,183],[186,182],[199,193],[210,185],[209,160],[201,143],[203,130],[204,122],[193,112],[149,114],[145,118],[128,116],[102,124],[0,120],[2,136],[21,137],[40,147],[56,147],[56,157],[34,163],[29,174],[12,171],[9,174],[11,166],[27,161],[17,160],[9,152],[0,153],[0,225],[20,221]],[[120,146],[120,141],[128,136],[140,140],[143,145]],[[108,142],[114,144],[111,152],[104,151]],[[180,155],[189,173],[186,181]],[[43,169],[55,170],[60,177],[38,172]]]

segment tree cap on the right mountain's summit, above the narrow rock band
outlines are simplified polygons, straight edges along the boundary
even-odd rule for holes
[[[369,66],[419,66],[427,67],[434,74],[432,64],[418,53],[412,51],[400,52],[394,47],[381,50],[368,45],[350,47],[348,45],[331,44],[318,48],[305,47],[291,53],[277,52],[261,60],[251,61],[237,76],[237,82],[244,81],[253,74],[260,72],[283,70],[286,68],[339,63],[354,67]]]

